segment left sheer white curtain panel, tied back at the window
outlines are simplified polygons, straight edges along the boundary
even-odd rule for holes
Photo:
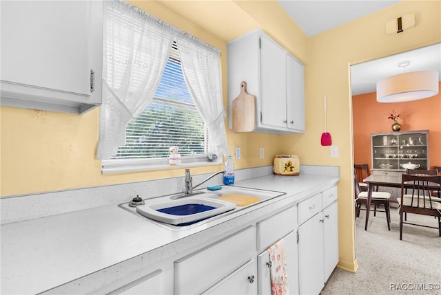
[[[152,100],[175,34],[128,3],[105,1],[98,159],[110,159],[125,144],[125,127]]]

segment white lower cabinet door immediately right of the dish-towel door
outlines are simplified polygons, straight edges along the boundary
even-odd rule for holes
[[[298,228],[298,276],[300,294],[319,294],[323,277],[323,219],[318,213]]]

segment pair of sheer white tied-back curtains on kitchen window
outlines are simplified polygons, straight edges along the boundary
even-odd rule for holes
[[[108,160],[125,144],[125,128],[152,100],[174,39],[187,87],[209,129],[209,153],[229,155],[220,51],[124,1],[105,1],[104,14],[96,158]]]

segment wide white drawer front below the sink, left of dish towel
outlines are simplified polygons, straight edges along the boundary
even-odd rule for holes
[[[174,262],[174,292],[200,294],[231,274],[255,252],[253,227]]]

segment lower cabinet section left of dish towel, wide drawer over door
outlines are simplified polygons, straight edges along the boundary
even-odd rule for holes
[[[255,249],[256,228],[250,226],[178,259],[174,262],[174,294],[237,294],[238,289],[256,294]],[[249,261],[254,267],[247,267]],[[236,271],[244,265],[243,271]]]

